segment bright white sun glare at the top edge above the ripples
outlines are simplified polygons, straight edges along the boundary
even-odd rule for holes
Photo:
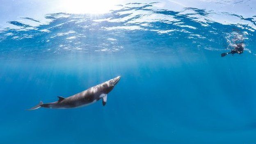
[[[117,0],[63,0],[60,3],[67,13],[103,14],[114,9]]]

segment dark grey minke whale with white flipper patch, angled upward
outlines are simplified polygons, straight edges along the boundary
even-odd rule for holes
[[[105,106],[107,103],[107,94],[112,91],[115,85],[117,85],[120,78],[121,76],[118,76],[67,98],[58,96],[59,100],[52,103],[43,103],[40,101],[38,105],[30,108],[29,110],[37,110],[40,107],[54,109],[81,107],[95,103],[100,99],[102,99],[102,104]]]

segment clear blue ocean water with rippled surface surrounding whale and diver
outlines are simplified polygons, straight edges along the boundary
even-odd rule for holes
[[[255,13],[162,3],[8,21],[0,144],[256,144]],[[244,53],[220,56],[236,43]],[[118,75],[105,106],[27,111]]]

